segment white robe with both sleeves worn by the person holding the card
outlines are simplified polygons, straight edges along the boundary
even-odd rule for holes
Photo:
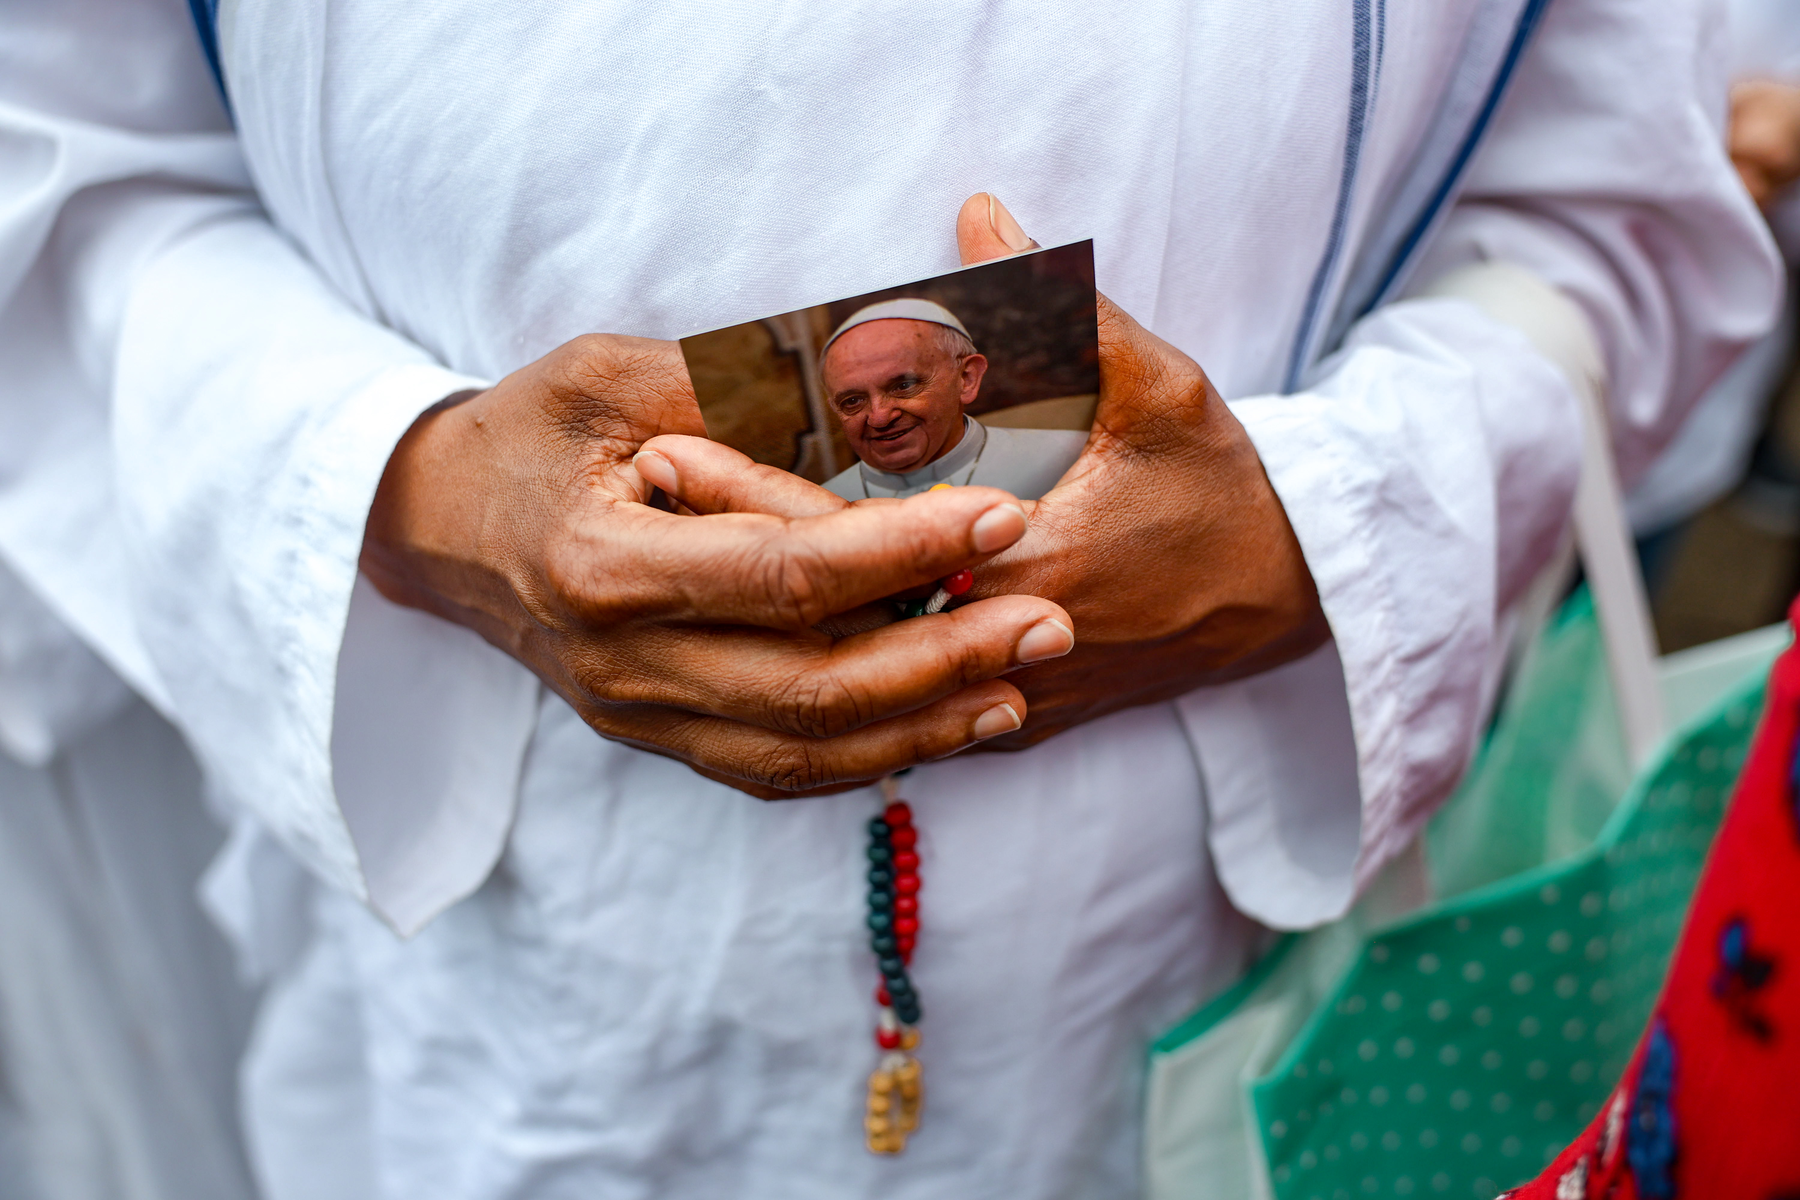
[[[1147,1040],[1411,842],[1564,525],[1564,376],[1404,281],[1579,300],[1627,479],[1778,290],[1701,4],[225,0],[236,135],[178,0],[7,20],[0,554],[322,883],[247,1065],[274,1200],[1130,1195]],[[909,775],[878,1160],[873,790],[607,743],[356,556],[441,396],[941,273],[983,189],[1206,367],[1336,640]]]

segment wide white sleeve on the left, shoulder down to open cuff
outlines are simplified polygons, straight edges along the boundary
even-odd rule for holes
[[[356,561],[400,435],[482,381],[270,225],[178,0],[5,22],[0,554],[218,793],[416,928],[499,855],[536,685]]]

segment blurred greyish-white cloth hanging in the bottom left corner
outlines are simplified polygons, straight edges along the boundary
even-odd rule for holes
[[[142,702],[45,766],[0,754],[0,1196],[252,1200],[250,993],[194,903],[218,842]]]

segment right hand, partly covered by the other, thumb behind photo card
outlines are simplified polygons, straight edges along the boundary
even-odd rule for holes
[[[956,234],[963,263],[1033,245],[986,194],[963,205]],[[1073,613],[1082,640],[1067,657],[1008,676],[1031,712],[983,750],[1022,748],[1118,709],[1255,675],[1330,635],[1244,426],[1192,358],[1105,297],[1098,302],[1100,408],[1087,448],[1049,495],[1024,502],[1030,531],[976,572],[970,594],[1051,597]],[[844,507],[823,488],[772,479],[779,471],[747,471],[742,455],[715,443],[664,437],[646,452],[671,464],[671,484],[679,471],[671,495],[698,511],[803,516]]]

